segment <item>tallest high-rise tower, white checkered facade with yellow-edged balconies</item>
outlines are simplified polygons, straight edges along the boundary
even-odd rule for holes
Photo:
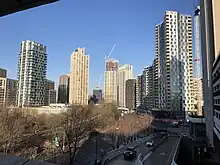
[[[192,111],[192,18],[166,11],[164,21],[156,26],[158,57],[159,108]]]

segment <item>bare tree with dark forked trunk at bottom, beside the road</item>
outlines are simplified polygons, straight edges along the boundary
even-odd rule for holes
[[[94,115],[88,106],[74,105],[70,111],[59,116],[59,119],[55,117],[54,121],[51,127],[59,139],[59,148],[68,153],[69,164],[72,165],[81,142],[91,131],[100,127],[99,115]]]

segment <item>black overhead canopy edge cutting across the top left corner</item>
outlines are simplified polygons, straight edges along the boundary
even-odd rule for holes
[[[58,0],[0,0],[0,17]]]

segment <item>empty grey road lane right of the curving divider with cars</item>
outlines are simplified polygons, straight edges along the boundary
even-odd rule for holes
[[[179,137],[168,137],[145,161],[144,165],[170,165]]]

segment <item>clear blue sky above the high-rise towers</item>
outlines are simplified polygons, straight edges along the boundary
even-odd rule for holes
[[[166,10],[193,14],[193,0],[60,0],[0,18],[0,67],[16,78],[22,40],[47,46],[48,79],[69,72],[70,55],[85,47],[90,55],[90,92],[104,72],[104,57],[132,64],[135,75],[154,59],[154,28]],[[103,80],[101,82],[103,87]]]

